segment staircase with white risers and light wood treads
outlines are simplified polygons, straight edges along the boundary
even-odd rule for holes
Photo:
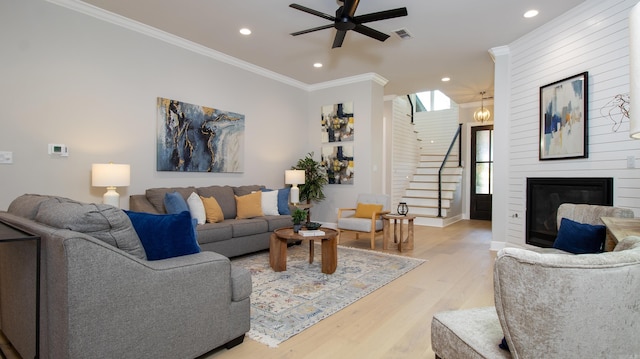
[[[445,227],[461,219],[461,215],[452,216],[450,211],[456,199],[460,205],[463,168],[458,167],[458,155],[450,155],[442,169],[442,211],[438,217],[438,171],[443,159],[444,155],[420,155],[420,163],[402,197],[409,213],[416,216],[416,225]]]

